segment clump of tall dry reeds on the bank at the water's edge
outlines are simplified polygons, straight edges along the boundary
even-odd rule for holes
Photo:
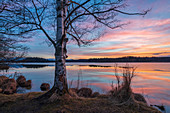
[[[118,72],[120,70],[122,73]],[[132,92],[131,83],[133,77],[135,76],[135,70],[136,67],[130,67],[129,65],[124,67],[118,67],[118,65],[115,65],[114,76],[117,83],[114,84],[112,82],[112,90],[110,91],[110,95],[114,97],[119,103],[134,101],[134,93]]]

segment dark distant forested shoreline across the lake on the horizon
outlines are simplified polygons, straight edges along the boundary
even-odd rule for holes
[[[0,60],[0,62],[55,62],[54,59],[39,57],[12,58]],[[170,57],[120,57],[120,58],[91,58],[91,59],[68,59],[67,62],[170,62]]]

